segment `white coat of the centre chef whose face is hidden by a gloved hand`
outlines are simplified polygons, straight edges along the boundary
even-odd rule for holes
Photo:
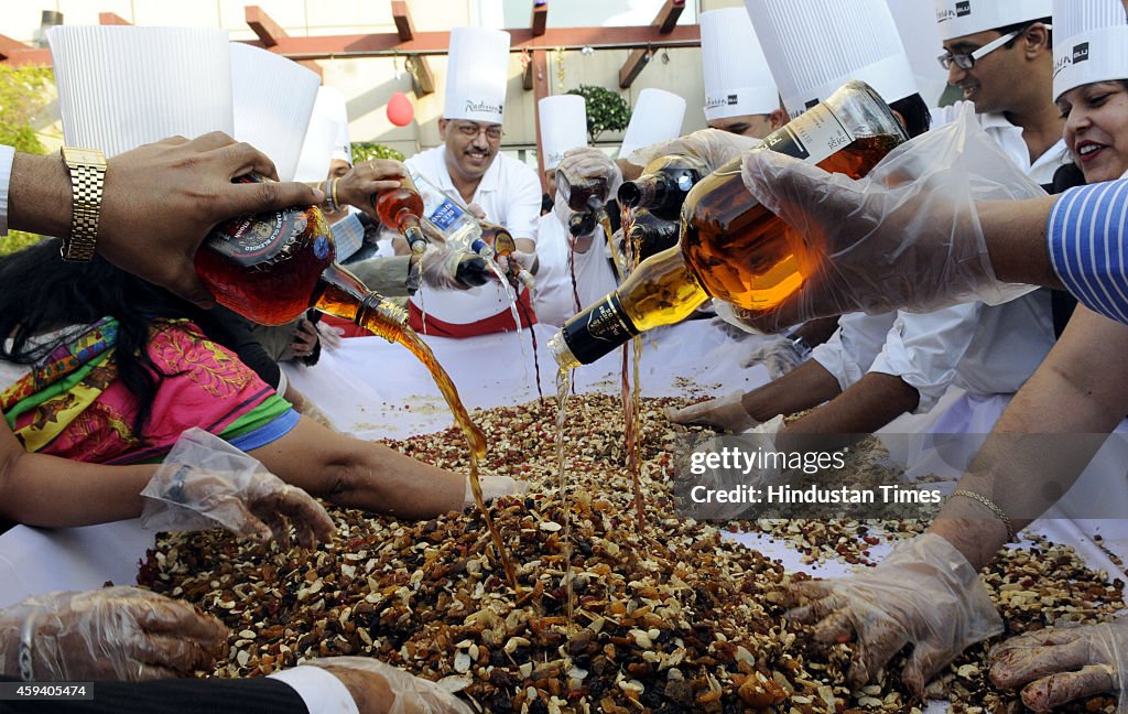
[[[602,228],[587,253],[574,254],[575,292],[580,297],[580,307],[585,308],[596,302],[618,285],[615,271],[608,262],[607,241],[602,238]],[[562,326],[575,315],[575,297],[572,294],[572,272],[569,263],[572,258],[569,248],[567,229],[561,223],[555,212],[549,211],[540,217],[537,232],[537,257],[540,270],[537,272],[537,289],[532,294],[532,307],[537,312],[537,321]]]

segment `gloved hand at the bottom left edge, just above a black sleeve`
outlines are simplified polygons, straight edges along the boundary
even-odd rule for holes
[[[49,592],[0,610],[0,669],[26,681],[188,677],[214,665],[227,635],[199,608],[139,588]]]

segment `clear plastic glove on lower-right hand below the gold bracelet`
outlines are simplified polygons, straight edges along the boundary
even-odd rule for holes
[[[870,681],[911,642],[901,679],[924,699],[928,680],[964,647],[1003,632],[979,574],[935,534],[901,543],[871,571],[802,582],[787,594],[801,605],[787,617],[817,623],[816,641],[854,641],[847,675],[853,688]]]

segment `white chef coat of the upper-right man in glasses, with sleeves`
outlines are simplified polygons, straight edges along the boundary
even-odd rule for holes
[[[934,125],[955,120],[962,104],[934,109]],[[1069,160],[1065,142],[1058,140],[1031,161],[1021,127],[1002,114],[976,116],[1011,160],[1039,184],[1049,184],[1058,167]],[[885,332],[881,334],[883,325]],[[831,338],[812,356],[835,376],[841,389],[864,372],[893,374],[919,393],[917,414],[935,406],[952,385],[976,394],[1016,391],[1054,344],[1046,291],[994,307],[969,302],[934,312],[898,311],[891,327],[882,319],[847,315],[839,320],[839,330],[853,334],[848,340]],[[871,358],[872,345],[878,342],[883,347]],[[869,368],[860,369],[867,360]]]

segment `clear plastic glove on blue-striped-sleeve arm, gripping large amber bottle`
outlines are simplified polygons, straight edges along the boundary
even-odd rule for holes
[[[975,204],[1046,194],[984,133],[970,106],[861,180],[767,150],[744,155],[742,178],[807,246],[802,287],[772,311],[749,314],[763,332],[856,310],[998,305],[1032,290],[996,279]]]

